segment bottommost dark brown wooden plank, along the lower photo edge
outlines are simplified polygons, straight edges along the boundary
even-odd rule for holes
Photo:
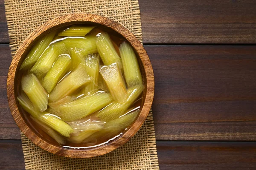
[[[21,141],[0,141],[0,169],[24,170]],[[157,142],[160,170],[251,170],[256,142]]]

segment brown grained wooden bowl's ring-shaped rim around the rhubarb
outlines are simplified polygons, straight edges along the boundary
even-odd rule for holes
[[[20,107],[17,106],[16,89],[18,85],[17,79],[19,79],[19,76],[17,76],[17,72],[23,59],[26,57],[26,54],[31,49],[33,43],[35,43],[38,38],[44,36],[49,31],[61,27],[67,27],[73,24],[100,25],[103,27],[107,27],[111,31],[116,31],[122,37],[124,37],[128,42],[131,43],[134,50],[137,52],[137,57],[142,68],[143,81],[145,84],[145,90],[143,93],[144,104],[134,124],[118,139],[113,140],[108,144],[91,149],[67,149],[65,147],[52,144],[52,142],[43,139],[44,137],[41,137],[38,132],[32,130],[31,126],[29,125],[29,121],[27,121],[26,116],[24,116],[23,114],[23,111],[21,111]],[[145,49],[143,48],[143,45],[141,45],[140,41],[134,36],[134,34],[132,34],[124,26],[116,23],[113,20],[95,14],[67,14],[61,17],[57,17],[53,20],[49,20],[47,23],[44,23],[42,26],[38,27],[35,31],[33,31],[20,45],[9,68],[7,78],[7,96],[9,107],[11,109],[11,113],[15,122],[17,123],[18,127],[20,127],[20,130],[33,143],[35,143],[42,149],[59,156],[71,158],[90,158],[94,156],[100,156],[115,150],[122,144],[128,142],[128,140],[131,139],[131,137],[134,136],[135,133],[137,133],[137,131],[143,125],[146,117],[148,116],[149,110],[152,105],[154,96],[154,75],[151,62]]]

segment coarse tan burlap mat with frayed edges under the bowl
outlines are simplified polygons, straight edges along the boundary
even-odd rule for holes
[[[111,18],[141,42],[138,0],[5,0],[12,57],[23,40],[41,24],[63,14],[84,12]],[[56,156],[21,133],[26,170],[159,170],[152,112],[138,133],[111,153],[90,159]]]

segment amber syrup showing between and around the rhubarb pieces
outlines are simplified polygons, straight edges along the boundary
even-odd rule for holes
[[[87,25],[86,25],[87,26]],[[90,25],[91,26],[91,25]],[[59,31],[62,31],[64,30],[65,28],[59,28]],[[111,40],[113,42],[113,45],[117,51],[117,53],[119,54],[120,56],[120,53],[119,53],[119,45],[125,41],[125,38],[122,37],[120,34],[118,34],[117,32],[109,29],[109,28],[105,28],[105,27],[102,27],[102,26],[96,26],[96,28],[94,28],[92,31],[90,31],[90,35],[97,35],[99,32],[101,31],[105,31],[109,34],[109,36],[111,37]],[[57,33],[58,34],[58,33]],[[53,40],[56,40],[58,39],[59,37],[57,37],[57,34],[55,36],[55,38]],[[88,35],[87,34],[87,35]],[[63,37],[61,37],[63,38]],[[31,49],[31,48],[30,48]],[[140,65],[140,71],[141,71],[141,74],[142,74],[142,78],[145,77],[145,72],[144,70],[142,69],[143,68],[143,65],[142,65],[142,62],[141,60],[138,58],[138,62],[139,62],[139,65]],[[103,65],[102,61],[100,60],[100,65]],[[16,88],[16,96],[18,96],[20,94],[20,92],[22,91],[21,87],[20,87],[20,82],[21,82],[21,77],[25,74],[27,74],[28,71],[17,71],[17,77],[16,77],[16,84],[17,84],[17,88]],[[143,78],[144,80],[144,78]],[[143,84],[145,85],[145,83],[143,82]],[[80,89],[78,89],[75,93],[78,93]],[[138,97],[138,99],[136,100],[136,102],[134,102],[133,105],[130,106],[130,108],[142,108],[143,104],[144,104],[144,97],[145,96],[145,90],[143,91],[143,93],[140,95],[140,97]],[[17,99],[16,99],[17,101]],[[102,146],[102,145],[105,145],[105,144],[109,144],[110,142],[113,142],[114,140],[118,139],[120,136],[122,136],[123,133],[125,133],[125,131],[128,130],[129,127],[127,127],[125,130],[123,130],[121,133],[119,134],[115,134],[115,135],[112,135],[112,134],[108,134],[106,136],[103,136],[101,138],[98,138],[98,139],[91,139],[90,140],[90,137],[89,137],[89,140],[86,140],[86,141],[89,141],[89,142],[82,142],[82,143],[72,143],[72,142],[69,142],[69,140],[67,139],[66,140],[66,144],[64,145],[61,145],[61,144],[58,144],[58,142],[56,142],[54,139],[52,139],[52,137],[50,137],[47,133],[44,132],[44,130],[41,130],[41,128],[37,125],[36,122],[34,122],[31,117],[30,117],[30,114],[27,113],[26,111],[24,111],[24,109],[18,104],[17,102],[17,105],[18,105],[18,108],[19,108],[19,111],[24,119],[24,121],[26,122],[26,124],[29,126],[29,128],[35,133],[37,134],[38,136],[41,137],[41,139],[44,139],[45,141],[49,142],[50,144],[53,144],[55,146],[58,146],[58,147],[65,147],[65,148],[72,148],[72,149],[90,149],[90,148],[93,148],[93,147],[99,147],[99,146]],[[49,107],[49,106],[48,106]],[[86,119],[90,119],[91,121],[100,121],[96,116],[95,116],[95,113],[83,118],[84,120]]]

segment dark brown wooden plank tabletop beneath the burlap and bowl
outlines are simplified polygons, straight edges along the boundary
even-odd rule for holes
[[[256,169],[256,1],[140,0],[161,170]],[[0,0],[0,169],[24,170]]]

